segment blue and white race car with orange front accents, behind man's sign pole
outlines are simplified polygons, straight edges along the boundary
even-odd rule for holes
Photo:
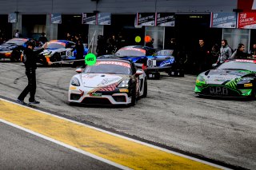
[[[39,54],[42,61],[74,61],[76,59],[77,51],[74,49],[75,43],[66,40],[52,40],[42,45],[45,50]],[[88,53],[88,49],[84,48],[84,56]]]

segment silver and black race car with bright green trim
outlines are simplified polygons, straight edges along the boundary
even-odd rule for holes
[[[234,59],[200,73],[194,93],[213,97],[256,97],[256,60]]]

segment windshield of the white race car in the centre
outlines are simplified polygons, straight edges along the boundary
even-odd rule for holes
[[[83,73],[131,74],[130,64],[120,61],[97,61],[95,65],[87,65]]]

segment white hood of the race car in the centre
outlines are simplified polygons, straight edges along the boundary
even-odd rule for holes
[[[116,87],[121,81],[130,78],[130,75],[110,73],[82,73],[81,80],[84,87]]]

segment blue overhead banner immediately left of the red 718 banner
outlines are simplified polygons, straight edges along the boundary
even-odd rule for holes
[[[236,28],[237,15],[235,13],[211,13],[210,27]]]

